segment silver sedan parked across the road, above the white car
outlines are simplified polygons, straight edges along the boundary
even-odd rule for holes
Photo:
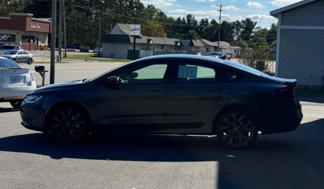
[[[7,51],[6,53],[1,54],[0,56],[9,58],[10,60],[13,60],[14,62],[17,63],[31,64],[34,62],[34,55],[27,51],[21,51],[21,50]]]

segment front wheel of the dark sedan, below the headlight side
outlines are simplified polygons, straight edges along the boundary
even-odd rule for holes
[[[50,131],[60,142],[75,143],[82,140],[89,131],[87,113],[74,105],[64,105],[50,115]]]

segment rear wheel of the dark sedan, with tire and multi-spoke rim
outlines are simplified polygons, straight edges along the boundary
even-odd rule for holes
[[[243,150],[249,148],[257,139],[258,122],[250,111],[244,109],[228,110],[216,121],[218,141],[226,148]]]

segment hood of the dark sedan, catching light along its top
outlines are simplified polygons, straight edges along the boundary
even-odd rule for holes
[[[52,85],[46,85],[46,86],[40,87],[38,89],[35,89],[35,90],[29,92],[27,95],[51,93],[55,90],[62,90],[64,88],[71,90],[71,88],[73,88],[74,85],[81,84],[81,83],[83,83],[81,80],[66,81],[63,83],[55,83]]]

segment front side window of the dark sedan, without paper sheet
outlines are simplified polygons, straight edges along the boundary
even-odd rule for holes
[[[117,72],[115,76],[119,77],[119,83],[162,83],[168,65],[161,64],[140,64],[126,67]]]

